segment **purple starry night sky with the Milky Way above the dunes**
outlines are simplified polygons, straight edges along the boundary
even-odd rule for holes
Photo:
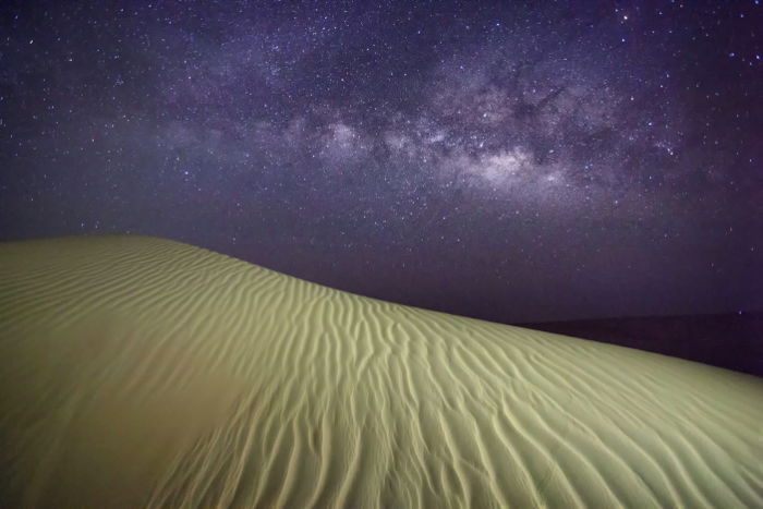
[[[497,322],[763,310],[759,1],[0,2],[0,240]]]

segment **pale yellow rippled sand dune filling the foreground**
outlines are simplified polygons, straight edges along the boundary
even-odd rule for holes
[[[761,507],[763,380],[152,238],[0,244],[0,506]]]

